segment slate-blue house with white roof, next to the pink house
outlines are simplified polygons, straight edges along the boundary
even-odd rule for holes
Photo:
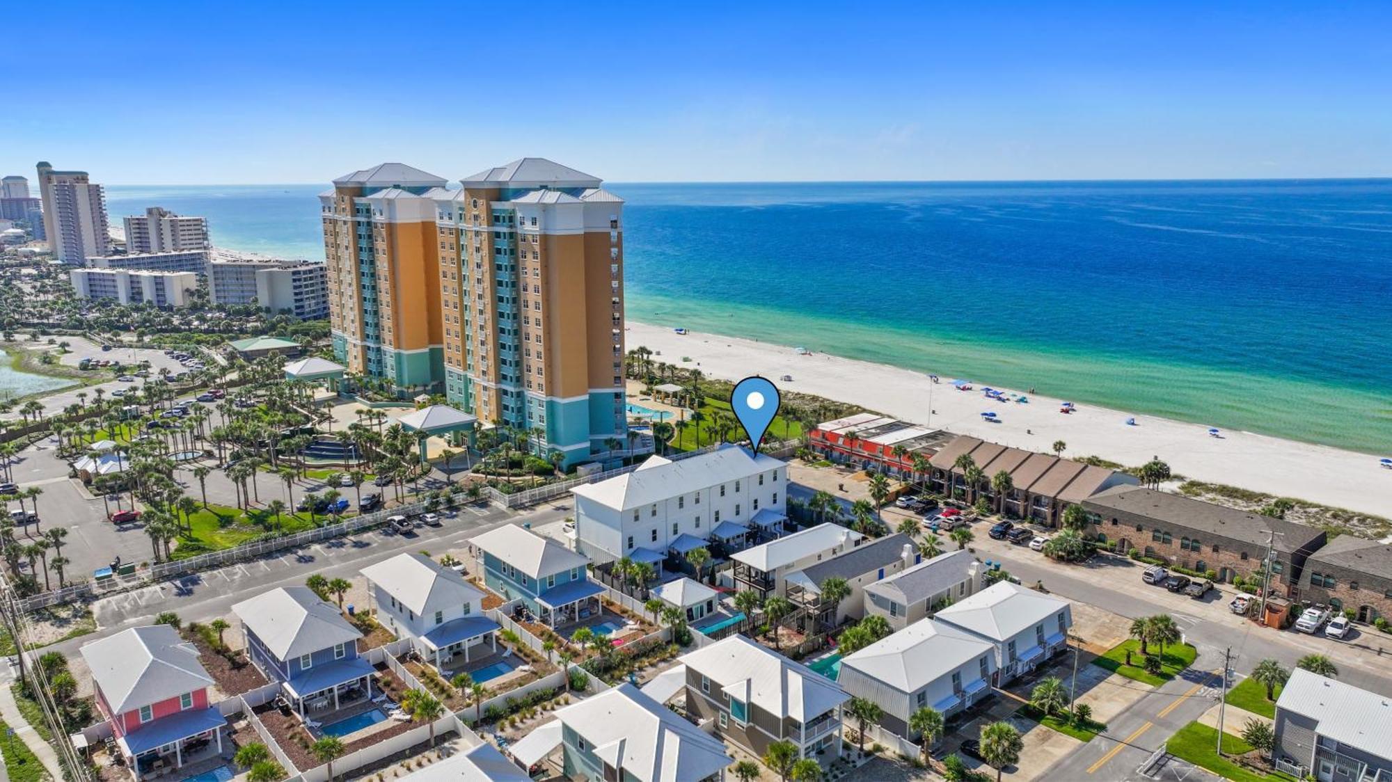
[[[358,632],[309,587],[273,589],[232,605],[252,664],[301,715],[324,714],[372,697],[372,665],[358,657]]]

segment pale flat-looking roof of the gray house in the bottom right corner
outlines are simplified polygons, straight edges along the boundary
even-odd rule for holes
[[[1276,699],[1276,717],[1281,711],[1308,717],[1321,736],[1392,761],[1392,703],[1384,696],[1296,668]]]

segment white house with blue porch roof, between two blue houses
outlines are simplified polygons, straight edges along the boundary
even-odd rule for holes
[[[423,554],[398,554],[362,575],[377,622],[398,639],[411,639],[441,672],[457,655],[469,662],[497,651],[500,628],[483,614],[483,591],[450,568]]]

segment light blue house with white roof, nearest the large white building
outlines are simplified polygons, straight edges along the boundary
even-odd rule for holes
[[[483,583],[503,600],[521,600],[541,623],[561,628],[600,612],[604,587],[586,573],[589,559],[516,525],[469,541],[483,564]]]

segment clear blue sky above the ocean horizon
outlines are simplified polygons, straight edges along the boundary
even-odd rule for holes
[[[1385,1],[199,6],[25,3],[0,174],[1392,175]]]

